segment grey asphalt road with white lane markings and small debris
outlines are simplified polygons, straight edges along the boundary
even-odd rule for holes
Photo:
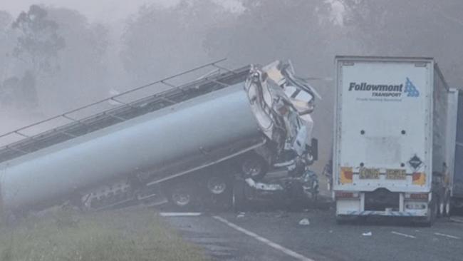
[[[309,225],[299,225],[307,218]],[[463,218],[336,225],[333,210],[165,217],[213,260],[463,260]],[[456,221],[455,221],[456,220]],[[457,221],[460,222],[457,222]]]

